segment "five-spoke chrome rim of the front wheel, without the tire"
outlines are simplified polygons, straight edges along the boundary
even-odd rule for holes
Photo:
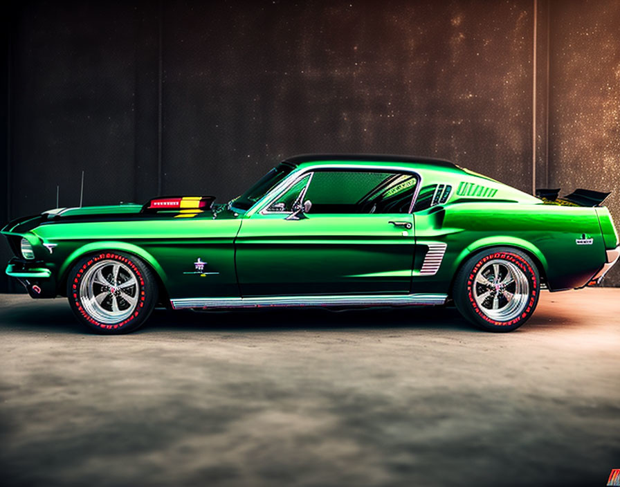
[[[105,324],[122,322],[138,305],[138,277],[118,260],[101,260],[89,267],[80,282],[80,297],[91,318]]]

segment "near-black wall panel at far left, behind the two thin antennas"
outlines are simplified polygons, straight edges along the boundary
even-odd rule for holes
[[[136,11],[26,3],[13,36],[11,214],[131,200],[136,178]]]

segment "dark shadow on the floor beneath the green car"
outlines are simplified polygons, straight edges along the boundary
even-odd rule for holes
[[[538,310],[513,333],[578,326],[569,315]],[[24,302],[0,308],[0,328],[46,333],[84,333],[64,300]],[[480,333],[453,306],[370,307],[365,309],[244,309],[233,311],[168,311],[156,309],[137,333],[159,331],[295,331],[347,329],[416,329]]]

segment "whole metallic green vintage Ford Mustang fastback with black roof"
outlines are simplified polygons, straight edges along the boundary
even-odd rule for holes
[[[32,297],[69,298],[101,333],[137,329],[157,304],[440,305],[490,331],[520,327],[540,288],[599,282],[620,255],[607,193],[531,196],[444,160],[284,160],[226,204],[57,208],[1,232],[6,273]],[[414,315],[412,314],[412,319]]]

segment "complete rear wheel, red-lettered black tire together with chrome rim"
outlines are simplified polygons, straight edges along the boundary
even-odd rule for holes
[[[488,331],[512,331],[534,313],[540,276],[520,250],[495,247],[477,252],[457,273],[453,297],[460,313]]]

